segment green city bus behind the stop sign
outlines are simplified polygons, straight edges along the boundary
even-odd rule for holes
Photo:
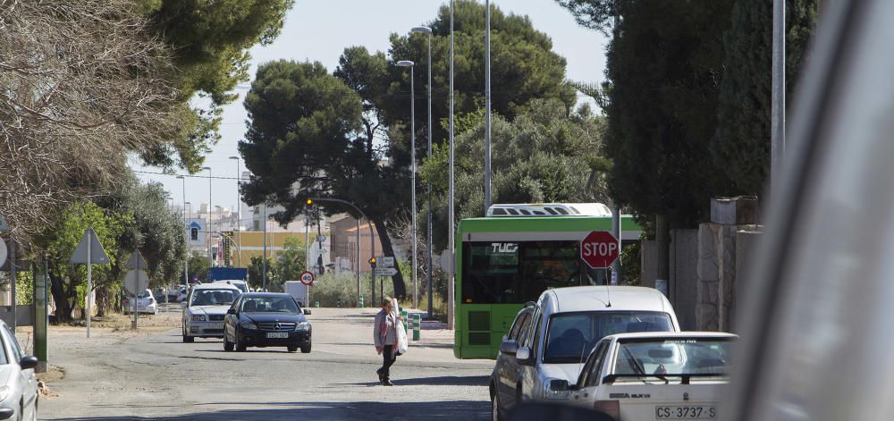
[[[608,283],[608,271],[580,259],[580,240],[611,232],[601,204],[494,205],[460,221],[456,242],[453,355],[496,358],[502,337],[528,301],[550,288]],[[642,229],[621,216],[622,244]]]

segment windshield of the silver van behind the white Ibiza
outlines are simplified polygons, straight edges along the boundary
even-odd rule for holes
[[[571,364],[586,358],[596,342],[615,333],[671,332],[671,316],[646,311],[588,311],[550,317],[544,363]]]

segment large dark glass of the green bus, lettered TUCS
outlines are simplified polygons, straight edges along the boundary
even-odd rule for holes
[[[461,302],[521,304],[549,288],[595,285],[578,241],[463,242]]]

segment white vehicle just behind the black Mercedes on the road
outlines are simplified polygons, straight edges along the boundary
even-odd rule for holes
[[[183,307],[183,341],[196,338],[223,338],[223,318],[241,294],[228,283],[200,283],[190,290]]]

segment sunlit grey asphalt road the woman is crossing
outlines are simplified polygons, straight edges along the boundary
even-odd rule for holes
[[[182,343],[180,329],[51,331],[63,380],[40,419],[489,419],[491,361],[453,358],[451,333],[424,330],[378,385],[373,310],[314,308],[314,349],[224,352],[219,340]],[[176,313],[170,324],[179,325]],[[428,327],[428,326],[426,326]],[[438,327],[438,326],[431,326]],[[154,331],[154,332],[153,332]]]

